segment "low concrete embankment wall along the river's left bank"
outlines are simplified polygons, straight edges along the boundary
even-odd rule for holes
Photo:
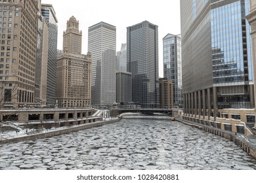
[[[53,137],[56,135],[62,135],[62,134],[66,134],[66,133],[71,133],[74,131],[79,131],[79,130],[83,130],[83,129],[89,129],[92,127],[99,127],[102,125],[106,125],[106,124],[113,124],[116,122],[119,122],[120,118],[115,119],[115,120],[108,120],[108,121],[101,121],[101,122],[93,122],[90,124],[83,124],[83,125],[79,125],[76,127],[69,127],[67,129],[62,129],[62,130],[58,130],[58,131],[51,131],[49,133],[38,133],[38,134],[34,134],[34,135],[28,135],[25,137],[17,137],[14,139],[5,139],[3,141],[0,141],[0,144],[5,144],[5,143],[11,143],[11,142],[20,142],[20,141],[28,141],[28,140],[33,140],[33,139],[44,139],[44,138],[48,138],[48,137]]]

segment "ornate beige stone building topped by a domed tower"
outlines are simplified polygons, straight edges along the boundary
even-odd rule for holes
[[[57,58],[56,97],[60,107],[91,105],[91,54],[81,55],[82,33],[74,16],[63,33],[63,54]]]

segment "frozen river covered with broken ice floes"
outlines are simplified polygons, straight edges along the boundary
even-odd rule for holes
[[[222,137],[144,117],[3,144],[0,169],[256,169],[256,159]]]

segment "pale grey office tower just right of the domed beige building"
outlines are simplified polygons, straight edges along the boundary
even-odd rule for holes
[[[92,105],[116,102],[116,27],[104,22],[88,29],[88,52],[92,55]]]

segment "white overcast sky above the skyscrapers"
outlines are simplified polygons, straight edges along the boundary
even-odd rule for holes
[[[126,42],[126,27],[144,20],[158,25],[159,66],[163,76],[163,37],[181,33],[180,0],[42,0],[52,4],[58,18],[58,49],[62,50],[63,31],[71,16],[79,20],[83,33],[82,53],[87,54],[88,27],[106,22],[116,26],[116,51]]]

